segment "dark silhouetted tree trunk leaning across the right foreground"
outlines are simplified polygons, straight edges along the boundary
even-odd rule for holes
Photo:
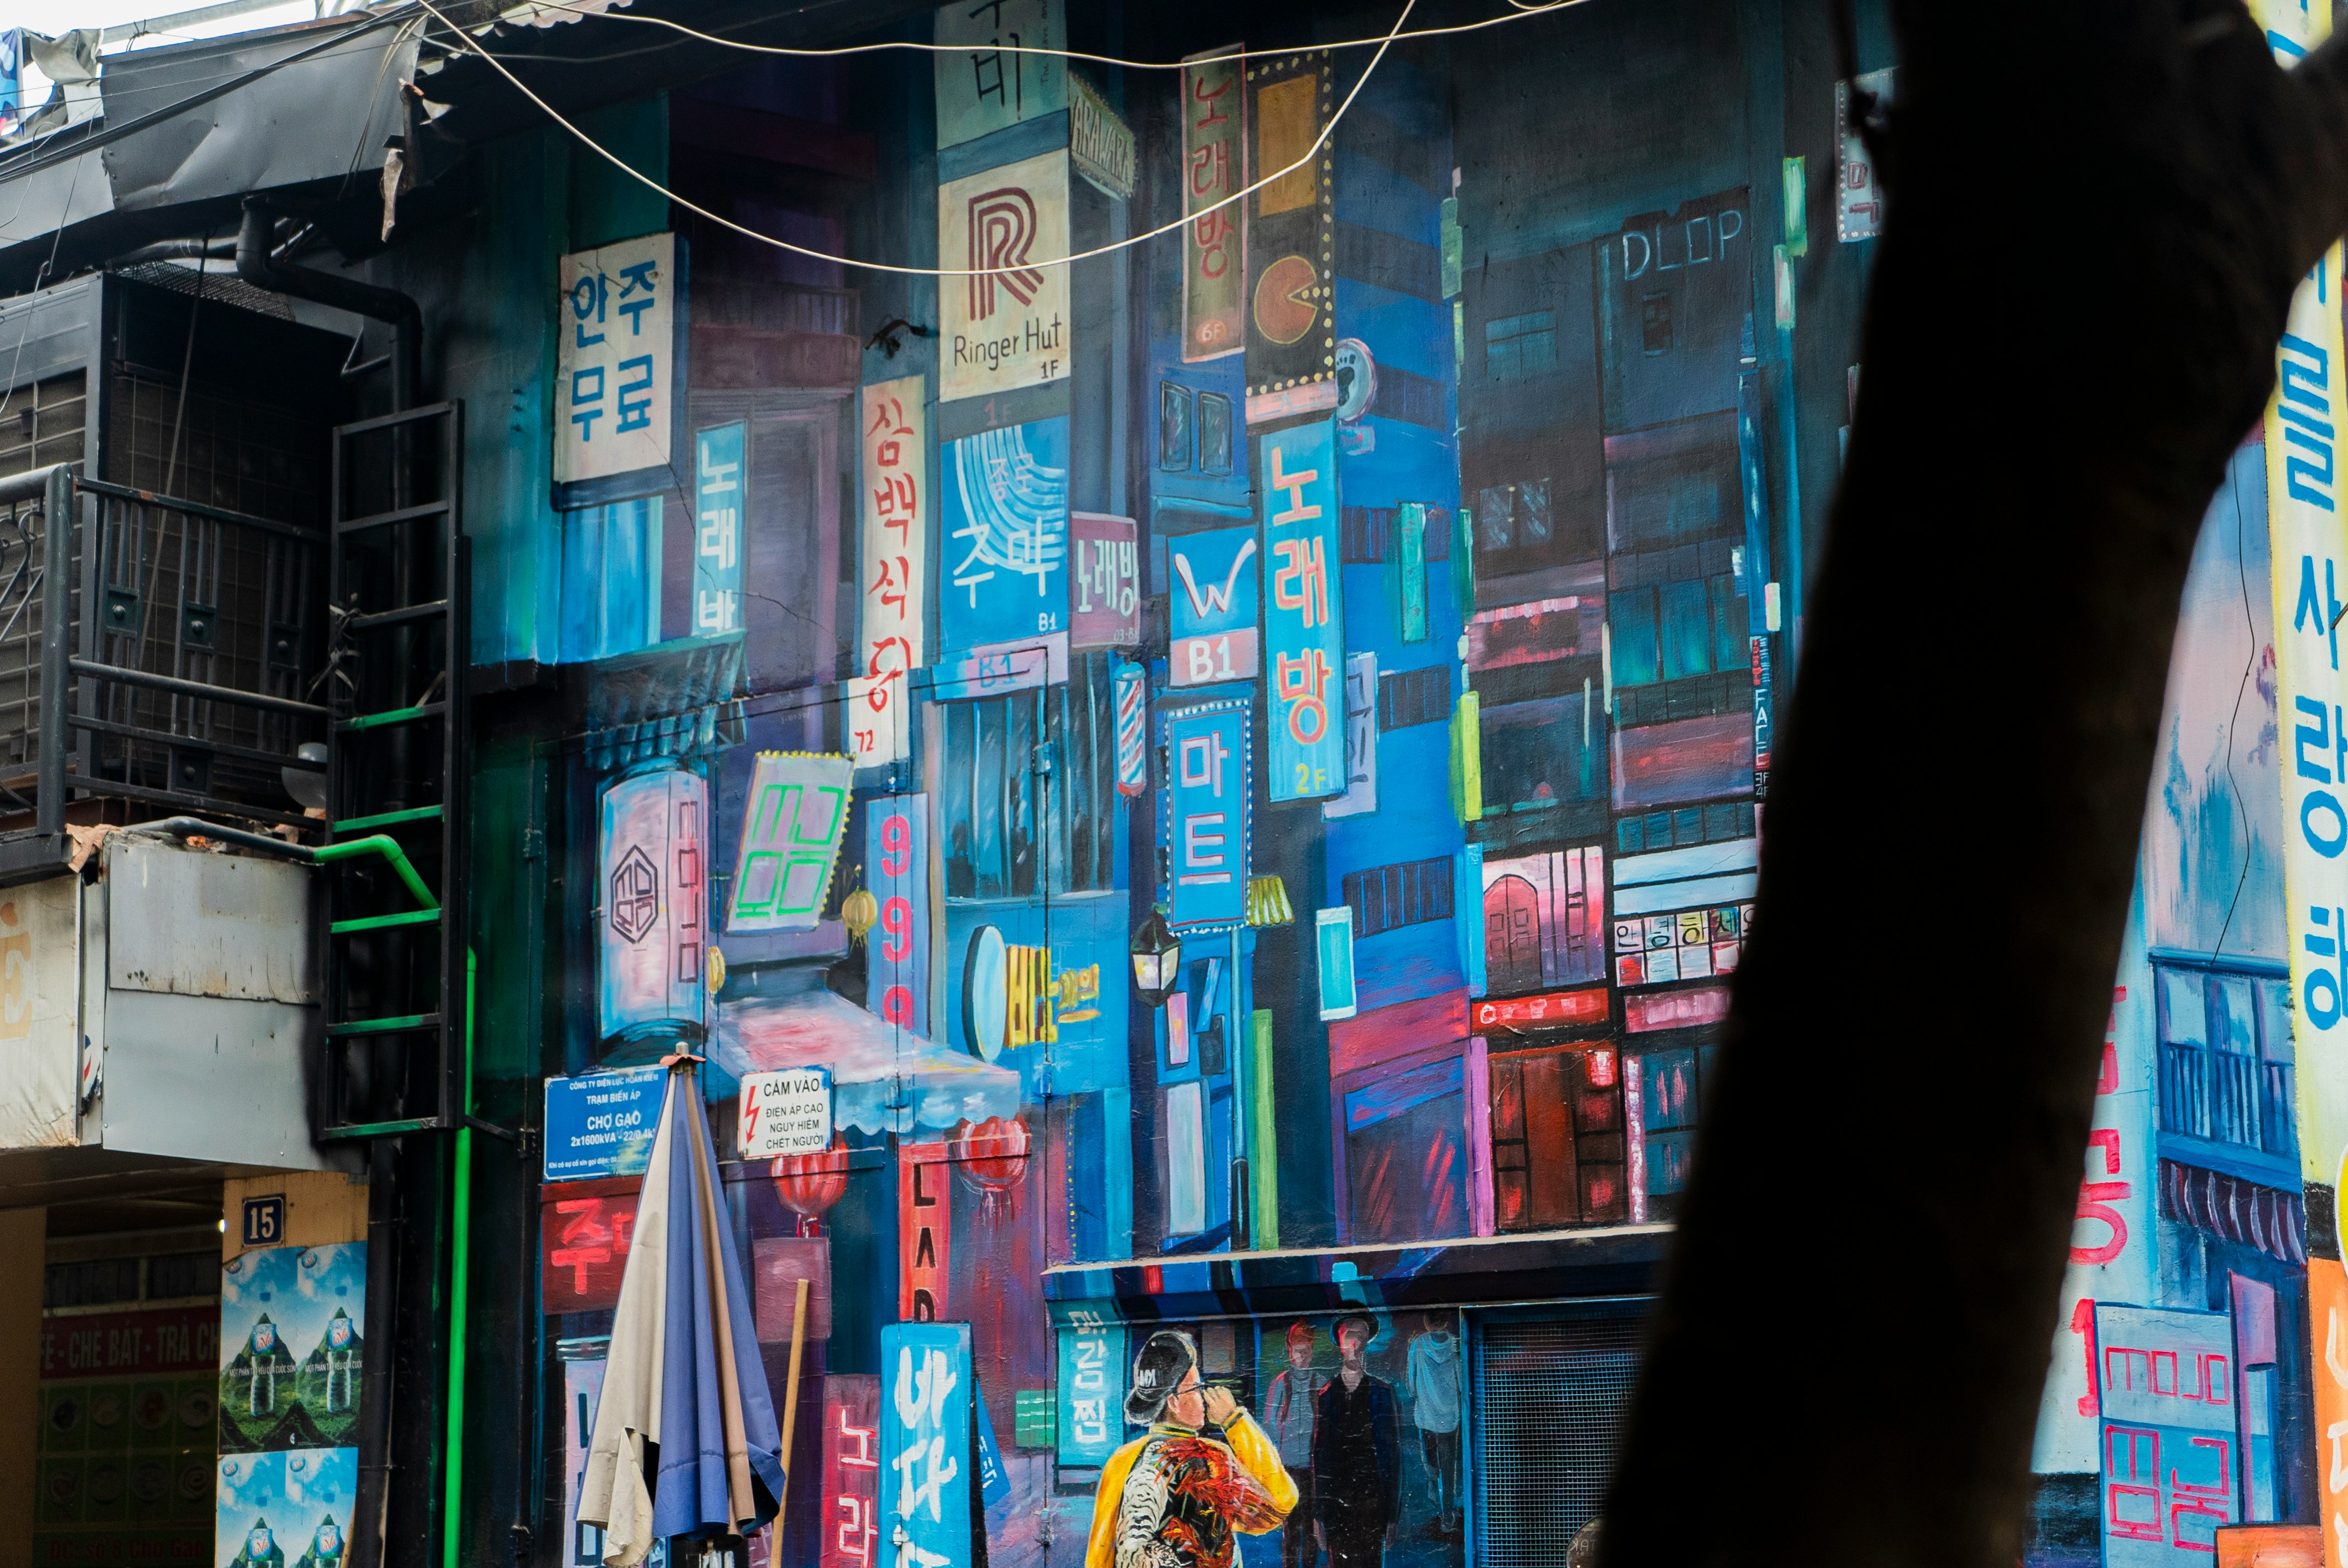
[[[1608,1568],[2017,1561],[2186,561],[2348,218],[2336,47],[1892,9],[1850,462]]]

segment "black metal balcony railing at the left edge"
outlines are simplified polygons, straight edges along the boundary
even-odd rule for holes
[[[319,530],[73,465],[0,479],[0,876],[68,822],[322,826],[289,777],[324,775],[324,620]]]

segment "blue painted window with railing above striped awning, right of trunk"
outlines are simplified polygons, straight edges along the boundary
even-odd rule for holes
[[[2207,1164],[2193,1157],[2191,1143],[2174,1145],[2188,1138],[2256,1150],[2296,1169],[2289,979],[2153,965],[2153,1000],[2160,1014],[2160,1153]]]

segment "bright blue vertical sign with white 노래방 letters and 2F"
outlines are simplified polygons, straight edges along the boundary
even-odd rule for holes
[[[1329,420],[1261,439],[1263,643],[1273,800],[1345,791],[1343,547]]]

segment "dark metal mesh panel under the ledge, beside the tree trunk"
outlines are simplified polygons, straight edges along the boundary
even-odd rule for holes
[[[1639,1371],[1639,1319],[1486,1324],[1477,1451],[1489,1568],[1564,1568],[1606,1498]]]

